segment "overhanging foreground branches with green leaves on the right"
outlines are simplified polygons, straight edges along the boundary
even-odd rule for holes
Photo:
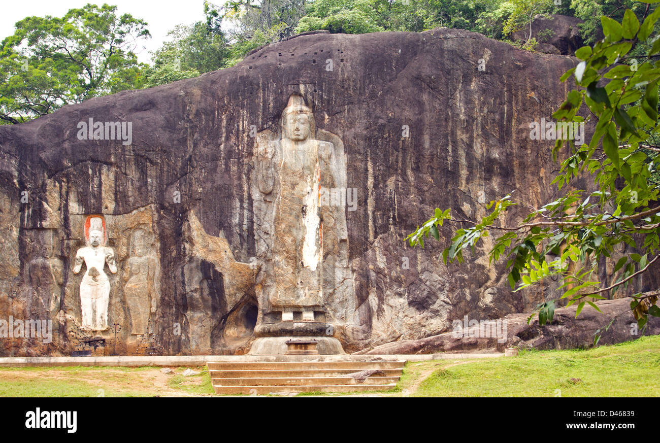
[[[655,0],[646,0],[655,1]],[[560,79],[574,78],[576,88],[557,109],[557,121],[593,121],[595,130],[588,144],[557,140],[553,153],[568,149],[560,171],[552,182],[556,200],[534,208],[519,225],[504,223],[506,213],[519,204],[512,194],[488,205],[489,214],[480,221],[455,220],[449,210],[436,209],[434,217],[407,237],[410,244],[424,246],[429,235],[440,239],[445,222],[460,223],[444,249],[445,262],[463,261],[463,252],[474,250],[479,241],[496,232],[488,252],[491,262],[506,258],[508,280],[516,291],[550,276],[560,276],[568,305],[578,303],[577,314],[593,299],[613,297],[633,279],[657,269],[660,262],[660,35],[655,24],[660,8],[645,5],[642,20],[626,9],[617,22],[601,17],[605,38],[576,51],[581,61]],[[632,51],[642,51],[633,58]],[[605,86],[601,86],[601,85]],[[586,105],[588,115],[580,110]],[[572,189],[578,177],[587,173],[595,190]],[[616,281],[601,285],[597,266],[611,257],[617,245],[628,245],[636,253],[618,259]],[[640,328],[647,315],[660,316],[657,299],[660,288],[637,293],[631,304]],[[552,320],[554,300],[539,305],[539,322]]]

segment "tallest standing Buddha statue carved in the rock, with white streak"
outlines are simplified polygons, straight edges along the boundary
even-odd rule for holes
[[[347,237],[345,208],[319,206],[321,187],[346,186],[341,139],[317,132],[312,109],[302,95],[292,94],[279,131],[257,135],[254,166],[251,193],[261,268],[256,289],[259,338],[250,352],[278,353],[273,349],[282,349],[287,336],[325,336],[324,344],[319,343],[325,353],[341,353],[339,341],[328,332],[333,328],[324,289],[335,287],[339,237]],[[329,232],[324,231],[324,218]],[[326,247],[329,251],[324,251]],[[328,252],[333,257],[325,266]],[[276,346],[265,345],[261,337],[279,341]]]

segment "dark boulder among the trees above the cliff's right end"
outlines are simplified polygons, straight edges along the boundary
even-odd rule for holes
[[[540,16],[532,22],[532,37],[539,42],[537,51],[548,54],[573,55],[583,46],[579,34],[582,20],[576,17],[553,14]],[[527,30],[529,32],[529,30]],[[525,40],[525,30],[513,32],[512,40]]]

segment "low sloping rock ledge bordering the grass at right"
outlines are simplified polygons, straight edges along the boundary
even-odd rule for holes
[[[356,354],[430,354],[440,352],[504,351],[506,347],[520,349],[574,349],[593,346],[595,334],[599,345],[635,340],[642,335],[660,334],[660,318],[650,317],[644,330],[638,330],[630,311],[632,299],[601,300],[595,303],[602,311],[589,305],[576,318],[577,305],[555,310],[552,323],[539,325],[538,317],[527,324],[528,314],[510,314],[488,324],[461,328],[420,340],[401,340]],[[459,322],[460,323],[460,322]]]

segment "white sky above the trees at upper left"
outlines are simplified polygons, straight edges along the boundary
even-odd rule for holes
[[[117,6],[117,15],[131,14],[147,22],[151,38],[143,39],[135,49],[139,61],[149,63],[149,51],[158,49],[166,40],[167,33],[178,24],[192,24],[205,20],[204,0],[22,0],[3,2],[0,14],[0,41],[14,34],[14,24],[27,16],[51,15],[61,17],[73,8],[82,8],[87,3],[101,6],[103,3]],[[216,5],[222,0],[211,1]]]

